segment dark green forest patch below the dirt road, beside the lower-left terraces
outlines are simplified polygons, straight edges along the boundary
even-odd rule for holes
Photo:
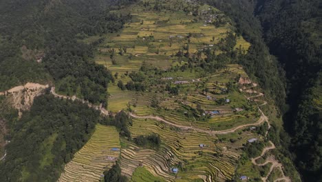
[[[99,117],[100,112],[85,104],[50,94],[37,97],[21,119],[6,117],[10,144],[0,164],[0,181],[56,181],[63,165],[88,141]]]

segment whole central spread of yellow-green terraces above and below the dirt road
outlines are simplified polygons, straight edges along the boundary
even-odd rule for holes
[[[96,63],[105,65],[116,79],[108,88],[109,111],[127,110],[139,117],[157,116],[173,123],[132,118],[132,138],[158,134],[162,144],[159,148],[144,148],[121,138],[122,174],[131,181],[232,179],[243,144],[260,136],[250,130],[216,136],[198,130],[227,130],[258,121],[256,103],[248,101],[248,95],[239,90],[239,77],[248,76],[241,65],[234,63],[214,72],[182,68],[193,55],[205,59],[206,54],[200,50],[222,53],[217,50],[219,44],[235,28],[222,12],[210,6],[180,0],[165,2],[162,10],[153,10],[155,1],[140,1],[121,10],[130,12],[133,19],[122,31],[105,34],[104,43],[96,51]],[[191,12],[197,8],[197,14],[184,8]],[[234,49],[244,54],[250,43],[233,34]],[[190,55],[178,57],[178,52]],[[144,85],[144,89],[127,89],[125,85],[131,81]],[[182,130],[175,125],[198,130]],[[171,172],[172,168],[178,168],[178,174]]]

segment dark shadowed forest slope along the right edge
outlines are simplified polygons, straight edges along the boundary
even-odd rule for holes
[[[321,29],[314,20],[321,21],[322,2],[259,1],[256,14],[270,52],[286,71],[288,110],[283,120],[292,137],[288,148],[305,181],[321,180],[322,110],[314,99],[321,94],[322,37],[315,36]]]

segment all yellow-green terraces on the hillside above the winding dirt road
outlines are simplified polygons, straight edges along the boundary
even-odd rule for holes
[[[226,130],[259,119],[255,105],[238,90],[237,78],[248,77],[240,65],[229,64],[213,73],[201,68],[180,70],[187,59],[175,56],[184,49],[197,54],[200,49],[215,48],[227,32],[235,29],[227,18],[226,23],[213,25],[224,17],[222,12],[205,5],[193,16],[171,7],[151,11],[140,4],[122,12],[131,12],[133,19],[122,31],[106,35],[95,58],[116,76],[108,88],[108,110],[156,115],[204,130]],[[236,37],[235,49],[246,51],[249,46],[242,37]],[[118,87],[119,81],[124,85],[131,81],[129,74],[133,71],[143,78],[140,83],[146,85],[144,92]],[[178,93],[169,93],[167,87],[178,88]],[[219,114],[207,114],[213,111]]]

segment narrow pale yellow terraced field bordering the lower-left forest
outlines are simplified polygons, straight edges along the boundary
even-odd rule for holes
[[[91,139],[79,150],[58,181],[99,181],[103,171],[111,168],[120,155],[120,138],[113,126],[96,125]]]

